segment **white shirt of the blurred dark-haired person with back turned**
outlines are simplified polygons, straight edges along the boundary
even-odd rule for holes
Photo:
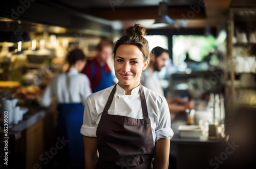
[[[60,73],[50,80],[41,98],[42,106],[49,106],[53,97],[56,97],[58,103],[86,103],[87,97],[92,94],[89,78],[75,68],[70,68],[68,77],[69,89],[66,72]]]

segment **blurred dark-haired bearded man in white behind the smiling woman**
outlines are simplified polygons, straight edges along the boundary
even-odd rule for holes
[[[161,71],[165,66],[165,61],[169,58],[168,50],[163,49],[162,47],[155,47],[152,49],[152,59],[150,66],[144,71],[144,79],[141,81],[142,85],[161,96],[164,96],[163,89],[160,85],[156,71]],[[175,117],[175,114],[179,111],[185,111],[187,108],[191,109],[194,107],[193,102],[185,101],[181,98],[166,99],[168,102],[170,113],[172,118]]]

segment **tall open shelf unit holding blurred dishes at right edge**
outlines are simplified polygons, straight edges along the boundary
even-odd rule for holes
[[[229,123],[236,108],[252,108],[256,104],[252,94],[256,92],[256,8],[230,8],[227,47],[229,71],[225,94],[229,96],[226,102]]]

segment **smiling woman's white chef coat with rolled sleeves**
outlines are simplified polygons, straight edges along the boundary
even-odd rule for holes
[[[97,137],[96,130],[101,114],[113,88],[114,86],[88,96],[84,107],[82,135]],[[143,90],[148,117],[151,121],[154,144],[160,138],[171,138],[174,133],[170,128],[170,112],[166,99],[145,87],[143,87]],[[139,86],[132,90],[131,95],[125,95],[124,89],[117,85],[108,114],[143,119]]]

